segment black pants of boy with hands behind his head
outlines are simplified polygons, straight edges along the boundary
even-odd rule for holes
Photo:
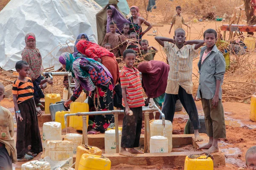
[[[178,94],[165,94],[162,112],[165,115],[166,120],[173,121],[175,113],[176,101],[180,99],[186,112],[189,114],[194,130],[200,129],[200,123],[198,119],[198,111],[195,106],[195,101],[192,94],[187,94],[186,91],[180,86]]]

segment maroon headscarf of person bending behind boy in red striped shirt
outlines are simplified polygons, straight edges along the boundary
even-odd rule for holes
[[[161,96],[166,91],[170,66],[162,61],[141,62],[138,70],[142,73],[142,86],[150,98]]]

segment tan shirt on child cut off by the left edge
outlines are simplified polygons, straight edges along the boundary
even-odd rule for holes
[[[14,135],[14,126],[12,113],[0,106],[0,142],[5,144],[9,155],[12,158],[12,162],[17,162],[17,150],[15,147],[15,141],[12,139]]]

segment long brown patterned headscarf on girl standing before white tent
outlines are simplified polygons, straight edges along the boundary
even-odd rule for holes
[[[22,51],[21,57],[23,61],[26,61],[29,64],[30,69],[29,69],[28,77],[30,77],[32,81],[34,81],[39,76],[41,76],[44,70],[44,67],[42,66],[42,56],[38,48],[36,48],[36,46],[29,47],[27,44],[28,38],[30,36],[33,37],[36,42],[35,34],[33,33],[26,34],[25,36],[26,47]]]

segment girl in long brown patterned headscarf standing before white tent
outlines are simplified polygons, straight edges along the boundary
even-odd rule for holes
[[[44,79],[44,77],[41,75],[44,67],[42,65],[42,56],[36,48],[36,39],[35,34],[29,33],[26,34],[25,37],[25,43],[26,47],[21,53],[21,57],[23,61],[26,61],[29,64],[29,73],[28,77],[32,79],[33,85],[34,85],[34,99],[35,104],[40,105],[40,99],[44,98],[44,93],[41,90],[43,89],[43,84],[48,82],[49,84],[53,84],[53,82],[50,79]],[[42,80],[43,79],[43,80]],[[41,85],[41,88],[40,88]]]

